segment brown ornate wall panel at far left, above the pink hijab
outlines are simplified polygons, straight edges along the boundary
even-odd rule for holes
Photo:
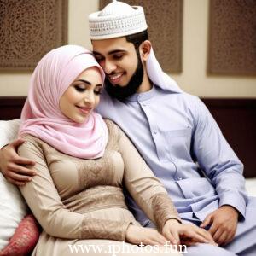
[[[0,70],[29,71],[67,44],[67,0],[0,0]]]

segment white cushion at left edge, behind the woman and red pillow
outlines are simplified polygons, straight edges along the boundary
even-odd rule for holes
[[[15,139],[19,125],[20,119],[0,121],[0,148]],[[0,250],[8,244],[27,212],[20,190],[0,173]]]

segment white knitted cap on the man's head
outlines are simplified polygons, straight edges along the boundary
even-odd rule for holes
[[[120,38],[148,28],[143,7],[115,0],[89,15],[89,27],[91,40]]]

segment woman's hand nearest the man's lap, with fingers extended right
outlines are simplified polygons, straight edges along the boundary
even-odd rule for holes
[[[163,236],[172,244],[195,245],[198,242],[217,245],[207,230],[195,224],[180,224],[176,219],[168,219],[162,230]]]

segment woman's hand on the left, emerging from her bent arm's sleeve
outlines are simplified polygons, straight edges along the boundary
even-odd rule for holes
[[[130,224],[126,230],[126,241],[137,245],[143,243],[143,245],[154,246],[164,245],[166,243],[166,238],[157,230]]]

